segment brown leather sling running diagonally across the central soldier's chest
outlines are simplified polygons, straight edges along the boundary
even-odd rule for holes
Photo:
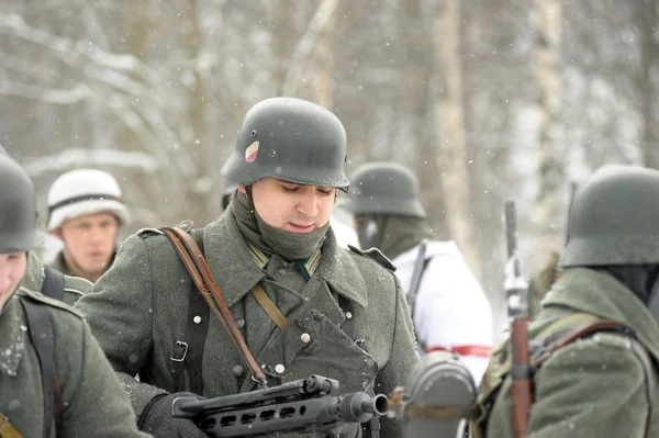
[[[220,317],[220,321],[224,325],[232,341],[238,348],[243,359],[249,367],[252,379],[261,384],[266,384],[266,375],[256,363],[256,360],[254,360],[254,356],[252,356],[252,351],[249,351],[249,348],[241,334],[241,329],[236,325],[233,315],[224,301],[224,296],[215,282],[213,272],[211,272],[199,246],[194,243],[192,237],[181,228],[164,227],[161,229],[174,245],[177,254],[183,261],[183,266],[188,270],[188,273],[201,291],[202,296],[213,312]]]

